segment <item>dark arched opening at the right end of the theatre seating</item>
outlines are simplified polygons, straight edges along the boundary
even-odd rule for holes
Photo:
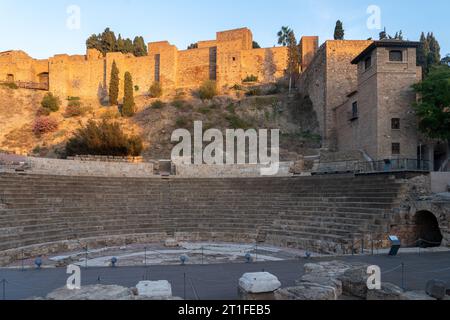
[[[417,246],[421,248],[439,247],[442,233],[435,215],[429,211],[420,211],[415,218]]]

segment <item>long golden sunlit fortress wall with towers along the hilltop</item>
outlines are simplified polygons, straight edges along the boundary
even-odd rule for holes
[[[116,61],[123,78],[130,72],[137,94],[147,92],[154,82],[164,89],[196,89],[206,80],[217,81],[220,88],[240,84],[249,75],[259,82],[274,82],[285,75],[287,48],[253,49],[253,35],[247,28],[218,32],[215,40],[200,41],[198,48],[178,50],[167,41],[148,44],[148,56],[87,50],[86,55],[56,55],[35,60],[22,51],[0,53],[0,81],[45,81],[60,97],[105,99],[111,66]],[[47,78],[41,77],[49,74]]]

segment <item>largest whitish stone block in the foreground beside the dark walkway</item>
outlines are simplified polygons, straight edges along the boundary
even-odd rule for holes
[[[278,278],[268,272],[246,273],[239,279],[239,288],[247,293],[274,292],[280,287]]]

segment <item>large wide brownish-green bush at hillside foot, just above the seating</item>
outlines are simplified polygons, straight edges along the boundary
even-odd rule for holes
[[[128,137],[118,123],[105,120],[100,123],[90,120],[66,144],[67,156],[139,156],[142,150],[139,136]]]

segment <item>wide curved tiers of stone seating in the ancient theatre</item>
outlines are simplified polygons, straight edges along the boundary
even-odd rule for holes
[[[63,241],[176,237],[334,252],[386,235],[402,184],[387,176],[105,178],[0,174],[0,252]],[[121,241],[122,241],[121,240]]]

